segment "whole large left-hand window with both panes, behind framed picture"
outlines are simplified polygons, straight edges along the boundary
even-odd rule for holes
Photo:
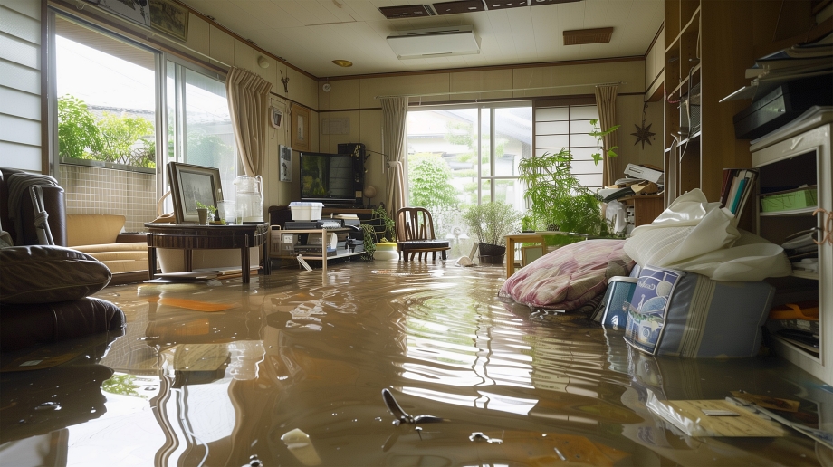
[[[158,175],[171,160],[219,168],[222,196],[234,200],[225,76],[70,15],[52,20],[56,162],[69,214],[123,214],[126,231],[142,230],[168,190]]]

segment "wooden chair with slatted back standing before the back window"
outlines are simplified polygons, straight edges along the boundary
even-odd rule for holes
[[[441,258],[445,261],[445,252],[450,250],[451,246],[446,240],[436,239],[434,220],[426,208],[403,207],[397,211],[395,223],[400,259],[404,258],[407,262],[419,253],[419,260],[422,261],[423,253],[426,253],[426,260],[428,253],[433,253],[432,260],[436,261],[436,252],[441,252]]]

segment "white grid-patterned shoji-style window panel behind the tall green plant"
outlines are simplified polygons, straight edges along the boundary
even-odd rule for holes
[[[595,99],[589,98],[595,102]],[[580,101],[580,100],[579,100]],[[596,104],[539,104],[535,106],[535,155],[557,153],[569,149],[570,172],[591,192],[602,187],[602,164],[596,165],[590,155],[597,152],[591,119],[598,119]]]

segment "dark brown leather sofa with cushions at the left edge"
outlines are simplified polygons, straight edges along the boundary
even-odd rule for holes
[[[10,217],[14,206],[9,205],[8,179],[20,172],[0,167],[0,225],[14,241],[14,246],[0,248],[0,351],[99,332],[120,334],[124,312],[109,301],[89,297],[110,283],[110,270],[89,254],[65,247],[63,189],[42,188],[56,245],[37,244],[30,196],[21,196],[19,214],[14,220]]]

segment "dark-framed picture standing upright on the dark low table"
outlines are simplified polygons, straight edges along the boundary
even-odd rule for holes
[[[217,206],[217,191],[222,188],[220,170],[168,162],[170,195],[174,202],[177,224],[197,224],[196,202]]]

